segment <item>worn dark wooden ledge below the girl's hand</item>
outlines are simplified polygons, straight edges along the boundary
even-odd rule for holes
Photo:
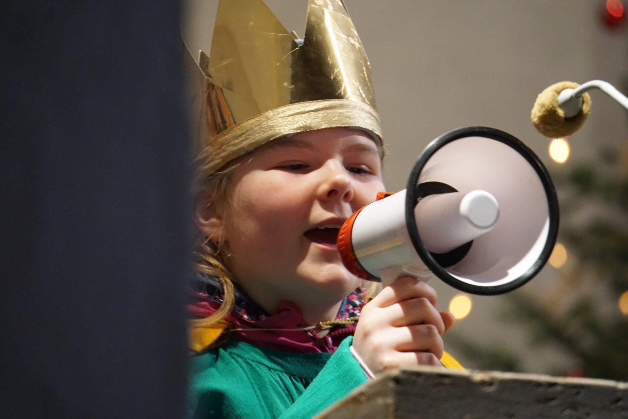
[[[435,367],[391,370],[317,419],[628,419],[628,383]]]

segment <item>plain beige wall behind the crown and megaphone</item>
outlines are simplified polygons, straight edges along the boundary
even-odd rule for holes
[[[305,0],[267,3],[288,30],[303,35]],[[462,126],[508,131],[554,170],[557,165],[548,158],[548,140],[529,120],[536,95],[562,80],[602,79],[617,87],[627,83],[628,28],[619,33],[602,26],[598,18],[601,0],[345,3],[372,64],[389,151],[386,181],[391,190],[403,189],[414,160],[428,142]],[[186,41],[191,50],[208,51],[217,1],[186,0],[185,4]],[[628,114],[604,94],[594,92],[589,121],[570,138],[572,157],[566,164],[594,157],[604,143],[627,140]],[[546,267],[516,292],[540,299],[556,281],[556,272]],[[433,286],[446,308],[457,291],[437,280]],[[518,323],[498,320],[506,297],[473,299],[471,315],[455,326],[458,333],[521,352],[530,372],[544,372],[560,362],[568,365],[551,348],[530,351]]]

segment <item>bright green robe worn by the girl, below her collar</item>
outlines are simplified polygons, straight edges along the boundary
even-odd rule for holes
[[[308,418],[367,381],[349,351],[301,354],[231,340],[192,357],[189,417]]]

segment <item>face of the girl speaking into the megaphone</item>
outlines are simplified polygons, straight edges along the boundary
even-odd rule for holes
[[[366,133],[326,128],[274,140],[234,170],[230,188],[214,238],[225,242],[236,281],[266,310],[282,300],[340,301],[359,285],[335,240],[342,223],[384,190]]]

